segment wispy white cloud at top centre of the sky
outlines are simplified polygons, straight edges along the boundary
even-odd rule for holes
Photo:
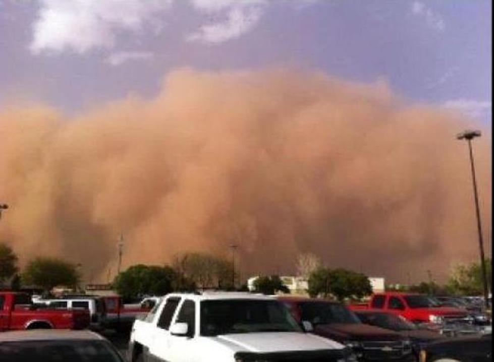
[[[199,12],[218,14],[224,19],[202,25],[187,36],[188,41],[222,43],[235,39],[252,30],[264,14],[266,0],[192,0]]]

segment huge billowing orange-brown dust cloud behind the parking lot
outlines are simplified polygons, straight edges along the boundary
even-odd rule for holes
[[[180,70],[152,100],[72,117],[6,108],[0,237],[23,263],[62,257],[94,282],[115,275],[120,232],[123,267],[228,256],[235,243],[243,277],[293,273],[312,252],[390,281],[442,278],[477,260],[468,151],[455,139],[475,126],[383,83],[289,71]],[[485,230],[490,142],[474,142]]]

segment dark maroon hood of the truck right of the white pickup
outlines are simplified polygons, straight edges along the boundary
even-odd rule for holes
[[[336,341],[398,341],[403,337],[394,331],[360,323],[319,324],[314,333]]]

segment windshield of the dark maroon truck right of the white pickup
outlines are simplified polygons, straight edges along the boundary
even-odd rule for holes
[[[361,323],[358,317],[345,306],[324,301],[310,301],[299,304],[301,318],[313,325],[331,323]]]

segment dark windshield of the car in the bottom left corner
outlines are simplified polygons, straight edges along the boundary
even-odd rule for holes
[[[123,362],[106,341],[1,342],[2,362]]]

